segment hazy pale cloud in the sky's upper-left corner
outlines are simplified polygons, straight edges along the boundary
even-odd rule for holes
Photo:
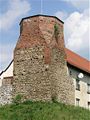
[[[0,30],[8,30],[15,20],[30,11],[30,3],[27,0],[8,0],[8,10],[0,15]]]

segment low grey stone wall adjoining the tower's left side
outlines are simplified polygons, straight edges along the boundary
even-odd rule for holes
[[[7,77],[2,80],[0,87],[0,105],[12,102],[12,80],[13,77]]]

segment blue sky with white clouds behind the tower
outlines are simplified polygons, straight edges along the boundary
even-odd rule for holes
[[[20,20],[40,13],[63,20],[66,47],[90,59],[89,0],[0,0],[0,71],[13,59]]]

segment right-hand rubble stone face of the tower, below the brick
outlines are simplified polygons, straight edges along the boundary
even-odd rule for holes
[[[52,50],[52,94],[58,102],[74,105],[75,103],[75,88],[73,80],[67,74],[67,65],[63,61],[64,51],[56,48]]]

